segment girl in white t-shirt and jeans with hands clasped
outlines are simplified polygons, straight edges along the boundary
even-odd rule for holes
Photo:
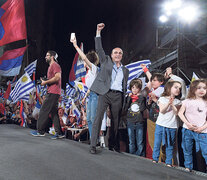
[[[172,166],[173,146],[176,140],[178,105],[180,100],[177,99],[181,91],[181,83],[178,81],[168,81],[165,85],[164,92],[159,98],[157,104],[160,112],[156,121],[153,162],[158,162],[160,155],[160,146],[166,147],[167,166]]]

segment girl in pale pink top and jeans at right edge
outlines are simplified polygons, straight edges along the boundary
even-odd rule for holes
[[[179,117],[184,122],[182,129],[182,148],[186,170],[193,169],[193,142],[196,152],[201,150],[207,164],[207,81],[194,80],[187,99],[182,102]]]

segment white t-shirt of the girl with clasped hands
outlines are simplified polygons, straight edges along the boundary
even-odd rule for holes
[[[159,105],[159,103],[168,104],[169,100],[170,100],[169,98],[160,97],[158,99],[157,103],[158,103],[158,105]],[[174,99],[174,102],[173,102],[174,105],[178,105],[179,103],[180,103],[179,99]],[[159,116],[157,118],[156,124],[163,126],[163,127],[167,127],[167,128],[177,128],[178,127],[177,118],[176,118],[176,115],[175,115],[172,107],[169,106],[168,109],[166,110],[166,113],[164,113],[164,114],[159,112]]]

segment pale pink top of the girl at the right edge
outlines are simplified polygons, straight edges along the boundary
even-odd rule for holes
[[[182,104],[185,106],[186,119],[197,127],[203,126],[207,116],[207,102],[197,99],[186,99]],[[188,129],[185,123],[183,127]],[[207,129],[203,130],[202,133],[207,133]]]

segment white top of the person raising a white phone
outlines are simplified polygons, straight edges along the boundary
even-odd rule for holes
[[[91,63],[91,70],[88,70],[88,73],[85,76],[85,82],[88,89],[91,88],[91,85],[93,84],[93,81],[95,80],[96,76],[98,74],[98,67]]]

